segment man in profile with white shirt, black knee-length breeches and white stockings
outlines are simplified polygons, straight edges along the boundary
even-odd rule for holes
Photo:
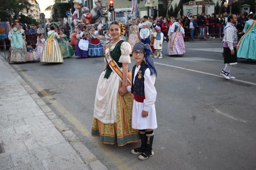
[[[231,76],[230,69],[234,64],[237,64],[237,29],[234,26],[237,22],[237,16],[235,14],[228,16],[228,24],[224,28],[223,37],[223,56],[225,68],[221,71],[220,75],[225,79],[235,79],[236,77]]]

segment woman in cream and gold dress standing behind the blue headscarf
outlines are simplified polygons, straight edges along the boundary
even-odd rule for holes
[[[134,44],[141,42],[139,27],[136,25],[136,21],[132,20],[132,25],[130,26],[128,43],[133,48]]]

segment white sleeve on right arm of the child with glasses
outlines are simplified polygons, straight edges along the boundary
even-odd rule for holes
[[[144,103],[144,111],[149,111],[150,108],[153,106],[153,104],[156,101],[156,89],[155,89],[155,79],[156,76],[150,75],[150,69],[147,68],[145,70],[144,74],[144,93],[145,93],[145,99],[143,101]]]

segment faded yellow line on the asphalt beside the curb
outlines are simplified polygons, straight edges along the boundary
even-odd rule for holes
[[[20,69],[18,65],[13,65],[17,70]],[[27,73],[20,70],[20,73],[25,77],[35,88],[37,91],[40,91],[41,94],[54,106],[63,116],[68,119],[84,136],[88,137],[88,139],[101,151],[105,154],[112,164],[116,165],[118,169],[131,169],[126,163],[125,160],[121,160],[116,154],[114,154],[106,145],[103,145],[98,141],[98,138],[92,137],[90,130],[86,129],[81,123],[74,118],[71,113],[69,113],[59,102],[56,100],[50,100],[52,98],[42,87],[40,87],[31,77],[28,76]],[[93,140],[94,139],[94,140]],[[97,140],[96,140],[97,139]],[[96,142],[95,142],[96,141]]]

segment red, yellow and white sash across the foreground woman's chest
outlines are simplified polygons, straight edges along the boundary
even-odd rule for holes
[[[109,64],[110,68],[115,73],[115,75],[118,76],[118,78],[123,82],[123,71],[117,65],[115,60],[113,60],[113,58],[110,56],[110,44],[111,44],[111,42],[109,42],[105,46],[105,59],[106,59],[106,62]],[[126,85],[127,86],[131,86],[132,85],[131,81],[128,78],[127,78]]]

